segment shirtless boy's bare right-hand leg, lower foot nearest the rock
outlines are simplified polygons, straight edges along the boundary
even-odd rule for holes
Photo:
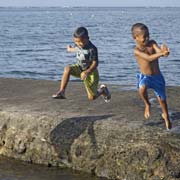
[[[161,109],[162,109],[162,118],[165,121],[166,128],[171,129],[172,125],[171,125],[171,122],[169,120],[167,102],[166,102],[166,100],[162,100],[160,97],[158,97],[158,101],[159,101],[159,104],[160,104]]]

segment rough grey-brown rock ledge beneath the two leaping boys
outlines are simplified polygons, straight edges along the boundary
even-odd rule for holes
[[[111,85],[112,100],[88,101],[80,82],[67,99],[59,82],[0,79],[0,154],[119,180],[180,179],[180,87],[168,87],[173,128],[165,130],[152,91],[152,116],[136,91]]]

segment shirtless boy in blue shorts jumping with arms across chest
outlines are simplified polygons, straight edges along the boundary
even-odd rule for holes
[[[158,59],[169,55],[166,45],[159,47],[154,40],[150,40],[148,27],[136,23],[131,28],[132,36],[136,42],[134,55],[139,65],[140,73],[137,74],[139,94],[144,101],[144,117],[150,117],[151,104],[148,99],[147,89],[152,88],[158,98],[162,109],[162,118],[167,130],[171,129],[166,102],[165,80],[160,71]]]

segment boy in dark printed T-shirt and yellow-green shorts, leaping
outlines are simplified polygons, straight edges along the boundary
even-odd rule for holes
[[[98,89],[98,51],[89,40],[88,31],[85,27],[79,27],[75,30],[74,43],[76,46],[68,45],[67,51],[76,52],[77,63],[64,68],[60,89],[52,97],[55,99],[65,98],[65,89],[70,75],[72,75],[83,80],[89,100],[94,100],[102,95],[105,102],[108,102],[111,99],[111,94],[107,86],[102,84]]]

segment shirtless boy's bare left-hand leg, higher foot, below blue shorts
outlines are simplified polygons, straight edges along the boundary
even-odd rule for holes
[[[147,119],[150,117],[151,104],[150,104],[149,99],[148,99],[147,88],[145,85],[141,86],[139,88],[139,94],[140,94],[140,96],[141,96],[141,98],[145,104],[144,117]]]

